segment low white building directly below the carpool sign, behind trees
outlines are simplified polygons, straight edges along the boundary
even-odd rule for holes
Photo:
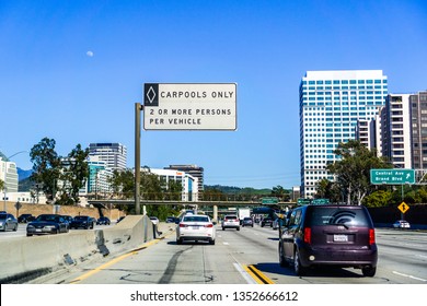
[[[183,186],[182,201],[194,202],[198,200],[198,179],[185,172],[174,169],[141,168],[141,172],[150,172],[164,181],[164,189],[170,180],[180,181]]]

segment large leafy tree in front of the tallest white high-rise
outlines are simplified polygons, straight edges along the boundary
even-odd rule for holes
[[[328,164],[326,169],[335,175],[347,204],[360,205],[363,198],[374,190],[370,184],[370,169],[390,168],[391,164],[378,157],[376,150],[369,150],[357,140],[338,143],[334,153],[341,160]]]

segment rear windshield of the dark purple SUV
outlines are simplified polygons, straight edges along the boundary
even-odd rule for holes
[[[313,225],[337,225],[347,226],[370,226],[370,219],[361,207],[349,209],[345,207],[325,208],[312,207],[308,211],[310,224]]]

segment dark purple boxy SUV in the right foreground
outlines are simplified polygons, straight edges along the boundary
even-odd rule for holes
[[[353,267],[365,276],[376,274],[376,233],[365,207],[299,207],[280,229],[280,266],[292,264],[298,275],[316,266]]]

